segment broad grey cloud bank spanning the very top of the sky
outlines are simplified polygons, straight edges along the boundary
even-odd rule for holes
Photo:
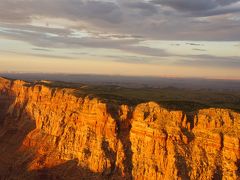
[[[240,40],[237,0],[0,0],[0,25],[21,28],[32,18],[62,18],[100,33],[162,40]],[[171,7],[169,9],[167,7]],[[198,17],[209,17],[203,23]],[[30,28],[30,27],[29,27]],[[227,29],[227,31],[226,31]],[[47,30],[48,31],[48,30]]]

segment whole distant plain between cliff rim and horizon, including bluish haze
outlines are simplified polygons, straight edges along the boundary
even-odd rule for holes
[[[30,81],[31,85],[72,88],[75,96],[98,97],[119,105],[155,101],[165,108],[185,112],[210,107],[240,111],[238,80],[24,73],[0,76]]]

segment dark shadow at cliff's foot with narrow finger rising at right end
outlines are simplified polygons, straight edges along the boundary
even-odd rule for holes
[[[25,170],[18,175],[18,179],[24,180],[105,180],[105,179],[126,179],[122,177],[121,170],[116,167],[116,153],[110,148],[106,140],[102,142],[102,150],[106,158],[110,161],[111,167],[104,169],[102,172],[93,172],[88,167],[79,165],[78,159],[63,161],[62,163],[50,168],[37,170]]]

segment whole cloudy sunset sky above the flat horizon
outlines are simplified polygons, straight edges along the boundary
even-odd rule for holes
[[[240,1],[0,0],[0,72],[240,79]]]

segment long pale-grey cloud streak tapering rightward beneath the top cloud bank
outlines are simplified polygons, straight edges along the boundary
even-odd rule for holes
[[[40,31],[38,31],[40,30]],[[47,33],[46,33],[47,32]],[[108,38],[100,37],[72,37],[71,32],[64,33],[62,31],[56,31],[55,34],[49,34],[49,31],[42,33],[42,29],[28,28],[14,29],[5,28],[4,31],[0,32],[2,36],[12,38],[16,40],[26,41],[34,46],[45,47],[45,48],[103,48],[103,49],[116,49],[122,50],[129,53],[135,53],[144,56],[169,56],[164,50],[155,49],[144,46],[137,46],[140,42],[138,39],[123,39],[123,40],[112,40]],[[63,31],[65,32],[65,31]],[[42,50],[38,49],[38,50]]]

